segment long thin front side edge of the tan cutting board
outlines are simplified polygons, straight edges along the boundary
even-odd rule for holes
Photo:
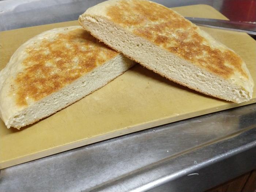
[[[162,118],[162,119],[158,119],[158,120],[153,120],[153,121],[149,121],[143,124],[139,124],[139,125],[132,125],[130,127],[126,127],[126,128],[120,128],[117,129],[115,131],[112,132],[108,132],[108,133],[102,133],[101,135],[97,135],[91,138],[85,138],[85,139],[81,139],[81,140],[77,140],[71,143],[66,143],[66,144],[62,144],[60,146],[54,146],[53,148],[49,148],[43,151],[39,151],[39,152],[35,152],[35,153],[31,153],[28,155],[25,155],[23,157],[17,157],[15,159],[11,159],[9,161],[2,161],[0,162],[0,169],[4,169],[7,167],[11,167],[11,166],[15,166],[15,165],[19,165],[22,163],[26,163],[26,162],[30,162],[30,161],[34,161],[36,159],[40,159],[40,158],[44,158],[44,157],[48,157],[50,155],[54,155],[57,153],[61,153],[64,151],[68,151],[71,149],[75,149],[75,148],[79,148],[82,146],[86,146],[89,144],[93,144],[96,142],[100,142],[100,141],[104,141],[104,140],[108,140],[108,139],[113,139],[116,138],[118,136],[123,136],[123,135],[127,135],[130,133],[134,133],[134,132],[138,132],[138,131],[143,131],[145,129],[150,129],[150,128],[154,128],[154,127],[158,127],[161,125],[165,125],[168,123],[174,123],[177,121],[181,121],[181,120],[186,120],[189,118],[193,118],[193,117],[199,117],[201,116],[200,114],[204,113],[205,114],[210,114],[210,113],[215,113],[215,112],[219,112],[225,109],[232,109],[232,108],[236,108],[238,106],[245,106],[245,105],[249,105],[252,103],[255,103],[256,99],[251,99],[248,102],[244,102],[244,103],[230,103],[229,106],[219,106],[219,107],[214,107],[214,108],[209,108],[209,109],[203,109],[200,110],[196,113],[184,113],[182,115],[178,115],[176,117],[166,117],[166,118]],[[190,115],[188,115],[190,114]]]

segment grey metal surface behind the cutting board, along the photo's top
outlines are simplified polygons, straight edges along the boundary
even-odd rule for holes
[[[85,10],[105,0],[5,0],[0,1],[0,31],[77,20]],[[208,4],[219,9],[221,2],[212,0],[153,0],[166,7]],[[46,14],[47,13],[47,14]]]

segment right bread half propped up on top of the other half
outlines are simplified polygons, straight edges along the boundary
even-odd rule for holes
[[[241,57],[177,12],[147,0],[109,0],[79,17],[83,28],[144,67],[201,93],[241,103],[253,80]]]

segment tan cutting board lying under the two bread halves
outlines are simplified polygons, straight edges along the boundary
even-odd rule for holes
[[[225,19],[208,5],[174,10],[184,16]],[[14,51],[34,35],[77,24],[72,21],[1,32],[0,69]],[[256,82],[256,43],[249,35],[202,29],[240,54]],[[7,129],[0,121],[0,168],[157,125],[253,103],[255,93],[254,88],[253,99],[238,105],[197,93],[136,65],[86,98],[20,131]]]

